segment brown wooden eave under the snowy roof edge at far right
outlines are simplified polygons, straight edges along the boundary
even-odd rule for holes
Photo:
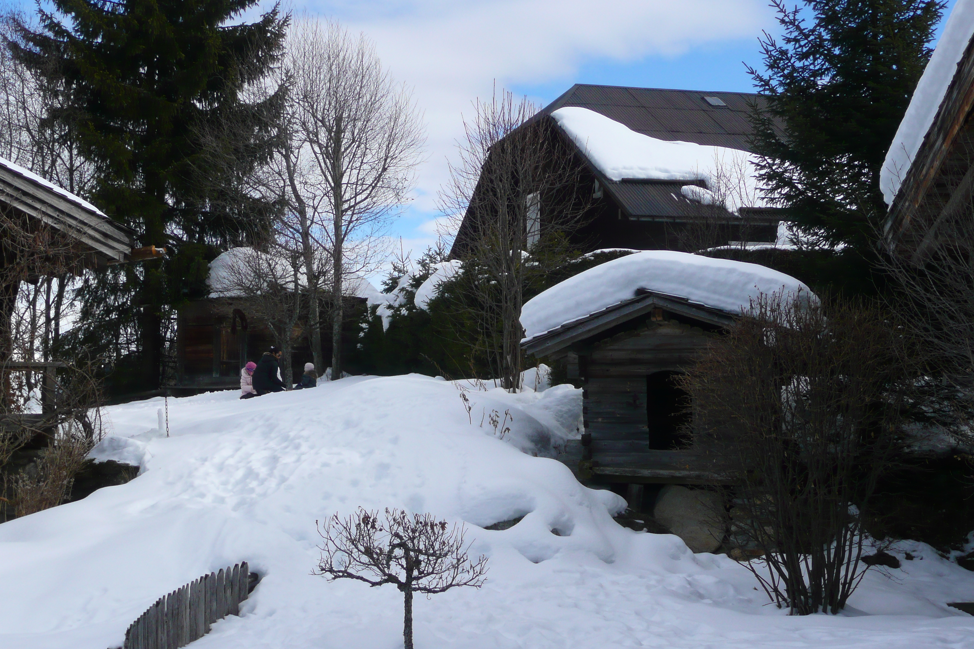
[[[891,252],[919,261],[937,227],[970,202],[974,190],[974,38],[923,137],[883,227]]]

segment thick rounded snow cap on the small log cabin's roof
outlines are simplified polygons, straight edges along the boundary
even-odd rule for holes
[[[647,250],[584,270],[535,296],[521,309],[525,340],[636,296],[638,289],[686,298],[732,314],[761,294],[808,300],[799,280],[757,264],[671,250]]]

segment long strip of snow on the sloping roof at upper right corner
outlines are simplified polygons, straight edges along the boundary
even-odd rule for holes
[[[880,189],[891,205],[917,156],[920,144],[933,124],[940,104],[954,79],[957,63],[974,34],[974,0],[956,0],[937,48],[930,56],[914,90],[910,106],[880,169]]]

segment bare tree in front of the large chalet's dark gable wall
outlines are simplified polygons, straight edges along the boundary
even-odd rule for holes
[[[460,290],[468,301],[455,306],[476,323],[477,344],[513,391],[523,364],[524,291],[567,261],[592,188],[582,181],[575,146],[526,97],[515,102],[502,90],[473,108],[440,201],[465,262]]]

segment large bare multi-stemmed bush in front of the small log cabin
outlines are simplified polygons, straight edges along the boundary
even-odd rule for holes
[[[693,440],[734,487],[731,549],[792,614],[838,613],[861,581],[863,523],[900,451],[916,376],[879,308],[763,297],[681,380]]]

